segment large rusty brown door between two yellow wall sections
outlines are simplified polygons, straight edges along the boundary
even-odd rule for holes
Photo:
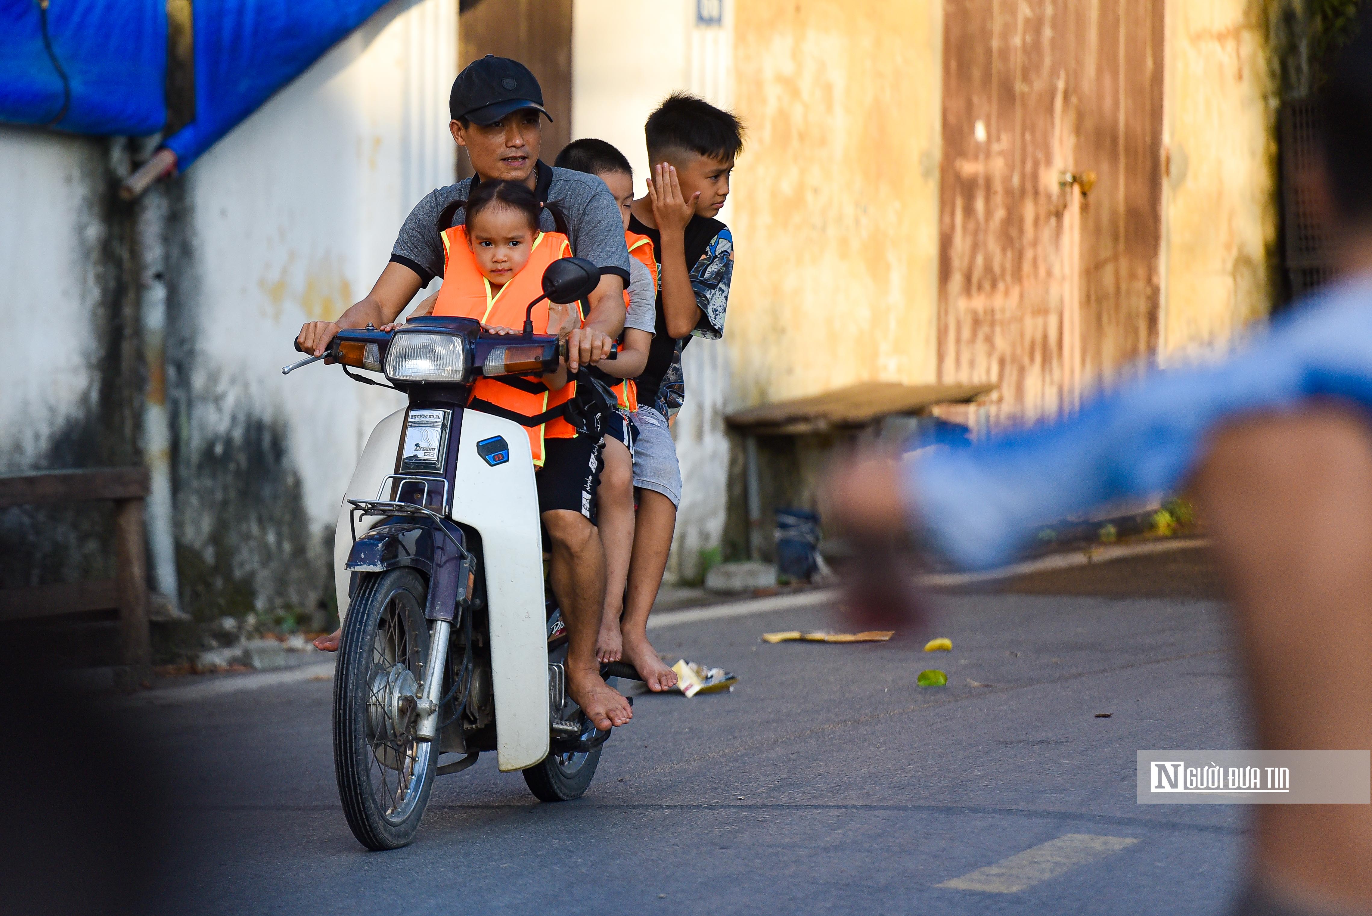
[[[940,380],[993,421],[1152,355],[1163,0],[947,0]]]

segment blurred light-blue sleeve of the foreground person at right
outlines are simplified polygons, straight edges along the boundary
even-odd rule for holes
[[[954,561],[996,566],[1034,525],[1176,492],[1221,424],[1312,398],[1372,409],[1372,276],[1305,300],[1221,362],[1155,372],[1059,422],[911,462],[907,503]]]

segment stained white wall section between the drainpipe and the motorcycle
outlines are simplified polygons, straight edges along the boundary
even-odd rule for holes
[[[259,603],[291,577],[279,557],[327,562],[366,435],[403,405],[336,367],[285,377],[280,367],[299,358],[300,324],[365,295],[413,204],[454,180],[456,63],[457,1],[392,0],[182,178],[189,256],[178,304],[193,315],[182,326],[193,361],[178,533],[218,577],[252,583]],[[254,490],[259,505],[235,505]],[[259,546],[232,544],[226,565],[225,525]],[[309,603],[320,584],[296,581],[288,603]]]

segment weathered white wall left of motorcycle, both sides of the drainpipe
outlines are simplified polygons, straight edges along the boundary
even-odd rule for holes
[[[311,610],[331,592],[339,499],[399,396],[336,367],[280,369],[300,324],[365,295],[413,204],[454,180],[457,7],[392,0],[158,191],[178,566],[202,617]],[[0,128],[0,470],[92,463],[62,443],[108,437],[92,413],[111,366],[137,417],[132,248],[106,163],[118,145]]]

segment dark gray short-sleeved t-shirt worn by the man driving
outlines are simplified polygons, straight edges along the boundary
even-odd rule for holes
[[[434,277],[443,276],[440,233],[466,219],[466,210],[451,204],[466,200],[472,181],[473,178],[464,178],[456,185],[429,192],[401,226],[391,261],[417,273],[423,287],[429,285]],[[624,218],[605,182],[584,171],[554,169],[539,162],[535,191],[539,200],[554,204],[567,219],[565,229],[558,229],[553,214],[545,210],[542,229],[565,230],[572,241],[572,254],[597,265],[601,274],[615,274],[628,285],[630,256],[624,245]],[[439,218],[445,219],[445,225],[439,225]]]

